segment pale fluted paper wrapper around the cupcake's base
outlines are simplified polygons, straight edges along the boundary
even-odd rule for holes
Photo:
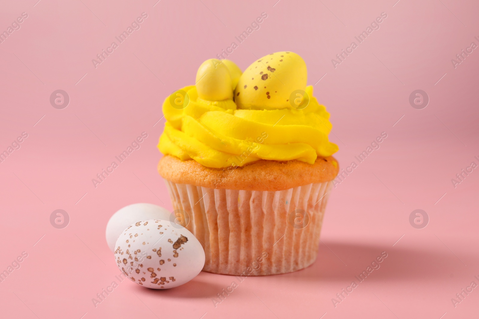
[[[275,192],[165,181],[173,209],[184,210],[184,218],[176,222],[205,249],[204,271],[274,275],[303,269],[316,260],[332,181]]]

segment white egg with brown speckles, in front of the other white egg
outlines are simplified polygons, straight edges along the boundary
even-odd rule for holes
[[[205,251],[186,228],[168,220],[143,220],[118,237],[120,271],[138,285],[169,289],[193,279],[205,265]]]

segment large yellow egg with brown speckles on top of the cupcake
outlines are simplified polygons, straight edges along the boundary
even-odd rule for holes
[[[296,53],[265,55],[239,77],[234,92],[236,105],[253,110],[290,108],[291,94],[304,91],[307,79],[306,63]]]

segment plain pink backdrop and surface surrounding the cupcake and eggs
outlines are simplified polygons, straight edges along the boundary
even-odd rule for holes
[[[0,271],[28,253],[0,283],[2,317],[477,316],[479,288],[456,308],[451,302],[479,284],[479,170],[451,183],[479,164],[479,49],[451,63],[479,44],[477,1],[36,1],[0,5],[0,31],[28,14],[0,44],[0,150],[28,133],[0,163]],[[91,59],[142,12],[141,28],[95,68]],[[104,238],[109,217],[136,202],[171,209],[156,172],[161,102],[194,84],[197,67],[262,12],[261,28],[229,58],[244,69],[271,52],[301,55],[308,83],[331,112],[342,167],[381,132],[387,139],[333,190],[309,268],[249,277],[217,308],[212,298],[237,279],[204,272],[164,291],[121,283],[95,308],[91,299],[119,274]],[[381,12],[388,17],[380,29],[334,68],[331,59]],[[70,97],[63,110],[49,102],[57,89]],[[430,98],[425,109],[409,104],[416,89]],[[141,148],[93,187],[141,132],[148,133]],[[68,227],[52,227],[55,209],[68,212]],[[427,227],[411,226],[414,209],[427,212]],[[383,251],[381,267],[334,307],[331,298]]]

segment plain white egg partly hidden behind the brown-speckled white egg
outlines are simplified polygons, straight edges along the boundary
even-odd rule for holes
[[[115,242],[126,227],[138,220],[170,220],[171,213],[158,205],[137,203],[119,209],[106,224],[106,242],[112,252]]]

